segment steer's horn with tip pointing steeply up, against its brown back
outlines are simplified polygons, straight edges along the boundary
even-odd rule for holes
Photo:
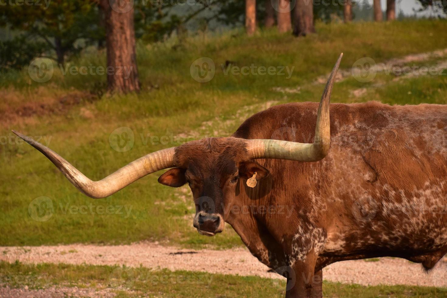
[[[323,95],[321,96],[313,143],[295,143],[266,139],[247,140],[247,150],[249,151],[250,159],[276,158],[298,161],[318,161],[328,154],[330,147],[329,101],[342,57],[343,53],[338,58],[337,63],[335,63]]]

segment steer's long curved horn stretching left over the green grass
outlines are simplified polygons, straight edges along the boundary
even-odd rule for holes
[[[84,194],[93,198],[107,197],[150,173],[174,166],[175,147],[152,152],[132,161],[99,181],[92,181],[55,151],[13,130],[26,143],[42,152]]]

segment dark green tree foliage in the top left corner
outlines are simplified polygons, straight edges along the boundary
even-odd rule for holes
[[[25,5],[9,4],[0,10],[0,25],[25,33],[22,41],[42,46],[36,53],[52,49],[59,63],[85,46],[104,38],[97,4],[90,0],[28,0]],[[27,39],[30,40],[27,40]],[[42,42],[31,42],[40,40]],[[80,42],[82,40],[82,42]]]

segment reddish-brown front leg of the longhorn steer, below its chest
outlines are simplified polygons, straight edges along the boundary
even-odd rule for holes
[[[297,260],[291,266],[292,278],[288,278],[286,298],[313,298],[322,297],[321,271],[315,273],[316,257],[306,261]],[[290,274],[289,274],[290,275]]]

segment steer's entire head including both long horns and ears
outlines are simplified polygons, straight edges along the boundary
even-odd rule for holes
[[[316,118],[313,143],[295,143],[271,139],[208,138],[191,141],[145,155],[99,181],[92,181],[51,149],[13,131],[50,159],[56,167],[89,197],[110,196],[150,173],[170,168],[160,176],[161,184],[179,187],[189,184],[196,205],[194,227],[202,235],[223,230],[224,210],[230,210],[241,181],[253,176],[260,180],[268,170],[256,159],[317,161],[329,151],[329,99],[342,55],[326,84]]]

